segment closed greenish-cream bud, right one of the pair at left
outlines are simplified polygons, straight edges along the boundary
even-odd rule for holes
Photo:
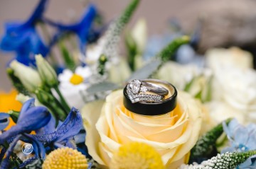
[[[46,59],[43,59],[41,54],[36,54],[36,66],[43,83],[46,83],[46,85],[50,87],[58,85],[58,78],[55,70],[50,66]]]

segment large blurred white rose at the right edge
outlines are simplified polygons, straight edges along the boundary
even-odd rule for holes
[[[251,68],[252,55],[230,48],[210,50],[206,57],[213,70],[213,100],[221,103],[218,104],[221,116],[256,122],[256,72]],[[215,108],[213,112],[216,111]]]

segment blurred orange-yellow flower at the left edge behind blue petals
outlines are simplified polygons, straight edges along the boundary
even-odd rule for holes
[[[9,112],[9,110],[20,111],[22,104],[16,100],[18,92],[12,90],[10,93],[0,91],[0,112]],[[14,121],[10,118],[10,123],[5,130],[10,129],[14,125]]]

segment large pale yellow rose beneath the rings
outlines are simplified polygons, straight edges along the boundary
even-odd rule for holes
[[[137,141],[156,148],[166,168],[186,163],[201,130],[201,103],[178,91],[178,104],[172,112],[149,117],[129,112],[122,97],[122,90],[115,91],[105,103],[96,101],[82,109],[85,144],[92,158],[109,166],[119,146]]]

